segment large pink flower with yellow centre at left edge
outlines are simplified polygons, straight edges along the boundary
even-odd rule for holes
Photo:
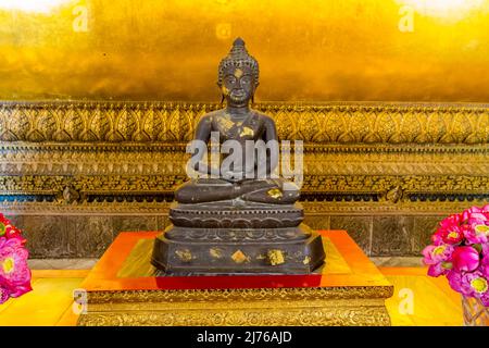
[[[9,287],[30,282],[27,257],[28,251],[23,247],[20,238],[0,237],[0,278],[3,278]]]

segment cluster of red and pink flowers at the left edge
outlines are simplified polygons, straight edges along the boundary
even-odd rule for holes
[[[21,231],[0,213],[0,304],[33,289],[25,243]]]

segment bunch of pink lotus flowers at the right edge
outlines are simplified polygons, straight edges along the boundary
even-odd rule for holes
[[[450,286],[489,307],[489,204],[442,220],[423,250],[428,275],[446,275]]]

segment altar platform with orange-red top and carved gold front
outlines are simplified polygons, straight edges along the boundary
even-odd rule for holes
[[[78,325],[390,325],[393,288],[344,231],[321,232],[311,275],[164,276],[158,233],[122,233],[90,272]]]

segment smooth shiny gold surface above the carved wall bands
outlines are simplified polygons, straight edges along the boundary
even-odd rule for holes
[[[0,99],[217,101],[236,36],[258,100],[489,100],[489,0],[0,0]]]

